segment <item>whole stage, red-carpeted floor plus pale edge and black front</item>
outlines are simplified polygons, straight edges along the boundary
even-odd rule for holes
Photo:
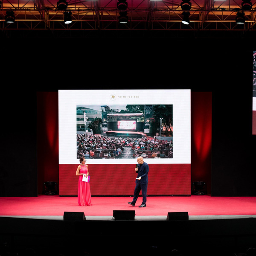
[[[80,207],[77,197],[0,198],[2,248],[32,256],[246,256],[256,247],[255,197],[149,196],[145,208],[140,199],[132,207],[131,197],[92,197]],[[135,220],[113,220],[113,210],[135,210]],[[64,220],[64,212],[86,220]],[[189,220],[167,221],[168,212],[188,212]]]

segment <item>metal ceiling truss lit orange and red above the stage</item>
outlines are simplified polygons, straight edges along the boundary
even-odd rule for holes
[[[245,13],[245,23],[235,22],[241,0],[191,0],[190,23],[184,25],[180,1],[127,0],[127,24],[119,24],[117,0],[70,0],[72,23],[64,24],[64,11],[57,0],[2,0],[1,30],[171,30],[171,31],[253,31],[256,3]],[[15,13],[15,23],[6,23],[6,11]]]

